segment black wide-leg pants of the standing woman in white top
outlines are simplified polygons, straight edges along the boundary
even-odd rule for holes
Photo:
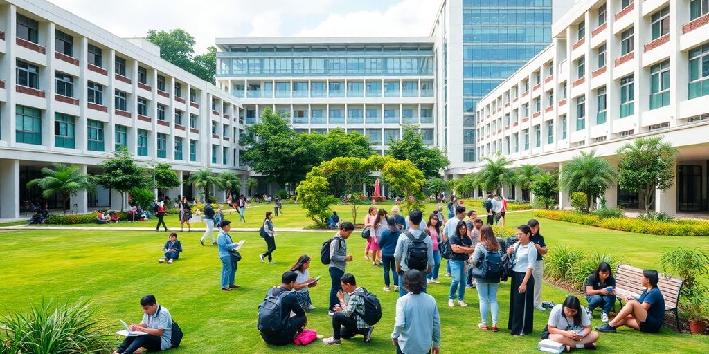
[[[534,321],[534,277],[527,280],[527,290],[520,294],[518,287],[525,279],[525,273],[515,272],[510,282],[510,317],[507,329],[510,334],[532,333]]]

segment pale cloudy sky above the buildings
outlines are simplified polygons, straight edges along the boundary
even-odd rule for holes
[[[440,0],[49,1],[122,38],[182,28],[194,36],[197,54],[215,38],[426,36],[440,6]]]

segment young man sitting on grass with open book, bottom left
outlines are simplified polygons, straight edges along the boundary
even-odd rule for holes
[[[113,354],[133,354],[139,348],[150,351],[160,351],[172,348],[172,316],[166,308],[157,304],[155,296],[145,295],[140,299],[143,307],[143,321],[140,324],[130,324],[130,331],[147,334],[125,337]]]

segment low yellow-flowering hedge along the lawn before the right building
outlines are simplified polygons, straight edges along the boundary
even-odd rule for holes
[[[568,212],[560,210],[535,210],[535,217],[573,222],[588,226],[603,227],[638,234],[663,235],[663,236],[709,236],[709,222],[700,220],[674,220],[655,221],[630,217],[610,217],[601,219],[593,214],[581,212]]]

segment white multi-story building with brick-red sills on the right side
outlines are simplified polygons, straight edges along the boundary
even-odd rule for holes
[[[660,135],[679,155],[655,210],[708,210],[707,23],[706,1],[579,1],[554,23],[553,44],[477,104],[479,159],[557,170],[595,149],[617,164],[620,146]],[[630,208],[642,200],[615,186],[605,199]],[[569,206],[566,193],[559,203]]]

